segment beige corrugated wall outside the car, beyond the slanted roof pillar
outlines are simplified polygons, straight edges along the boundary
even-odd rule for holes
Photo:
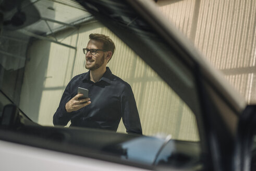
[[[159,0],[159,9],[256,103],[256,1]]]

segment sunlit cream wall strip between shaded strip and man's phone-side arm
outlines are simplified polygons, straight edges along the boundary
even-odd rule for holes
[[[70,37],[70,42],[72,42],[71,38],[72,36]],[[53,125],[53,114],[62,94],[57,92],[60,92],[59,89],[64,90],[69,82],[74,58],[74,49],[51,43],[46,79],[39,108],[39,124]]]

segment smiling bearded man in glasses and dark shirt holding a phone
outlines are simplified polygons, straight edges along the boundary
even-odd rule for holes
[[[90,34],[86,54],[88,72],[68,83],[53,116],[54,125],[99,128],[116,131],[121,117],[128,133],[142,134],[140,118],[130,85],[106,67],[115,51],[114,42],[103,34]],[[81,99],[78,87],[89,90]]]

